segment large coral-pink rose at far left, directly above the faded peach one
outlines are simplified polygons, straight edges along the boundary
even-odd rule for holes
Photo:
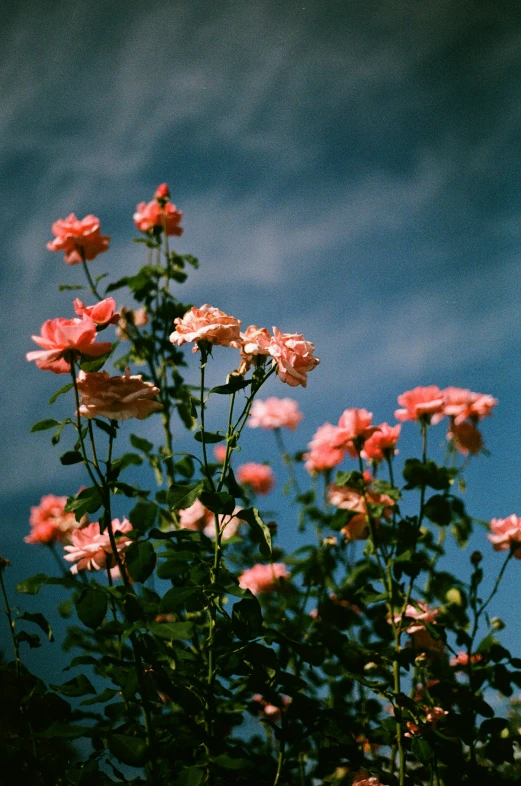
[[[94,358],[110,352],[110,341],[96,343],[96,335],[96,325],[85,314],[81,319],[48,319],[42,325],[41,336],[31,336],[43,349],[28,352],[25,357],[45,371],[66,374],[71,370],[71,359],[79,355]]]

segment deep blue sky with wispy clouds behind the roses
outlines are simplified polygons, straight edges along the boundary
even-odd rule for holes
[[[292,446],[346,407],[390,420],[416,385],[491,393],[491,456],[466,501],[484,519],[521,513],[515,3],[19,0],[0,52],[0,553],[13,577],[43,559],[20,545],[29,506],[82,481],[28,433],[62,383],[26,363],[29,336],[72,316],[59,283],[83,283],[46,250],[50,226],[100,216],[112,246],[92,271],[119,277],[142,263],[135,204],[164,180],[185,215],[176,248],[201,260],[180,297],[316,344]]]

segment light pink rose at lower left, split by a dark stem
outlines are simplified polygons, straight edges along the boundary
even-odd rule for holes
[[[120,521],[113,519],[112,529],[114,534],[118,532],[130,532],[132,524],[127,519]],[[130,538],[125,535],[116,538],[116,548],[118,553],[127,549],[132,543]],[[100,532],[99,522],[93,521],[82,529],[77,529],[71,534],[71,543],[69,546],[64,546],[65,551],[69,552],[64,555],[67,562],[75,562],[72,565],[71,573],[77,573],[78,570],[100,570],[100,568],[113,567],[112,561],[114,555],[110,545],[110,538],[108,530],[103,534]]]

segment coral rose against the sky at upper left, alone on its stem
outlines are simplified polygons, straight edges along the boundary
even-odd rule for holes
[[[109,247],[110,237],[100,233],[99,218],[89,214],[81,221],[74,213],[60,218],[52,225],[55,239],[47,243],[49,251],[65,251],[68,265],[78,265],[84,259],[91,260]]]

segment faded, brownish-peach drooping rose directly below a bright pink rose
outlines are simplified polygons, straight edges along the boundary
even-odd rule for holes
[[[84,418],[104,417],[110,420],[143,420],[151,412],[163,409],[153,399],[159,393],[151,382],[143,382],[141,374],[111,377],[107,371],[80,371],[78,376],[80,415]]]

